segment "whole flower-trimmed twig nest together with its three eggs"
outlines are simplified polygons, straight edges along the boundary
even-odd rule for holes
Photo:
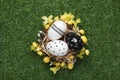
[[[74,17],[67,12],[54,18],[43,16],[44,28],[38,32],[38,41],[31,45],[31,50],[50,64],[54,74],[61,68],[73,69],[77,58],[89,55],[85,31],[78,26],[80,19]]]

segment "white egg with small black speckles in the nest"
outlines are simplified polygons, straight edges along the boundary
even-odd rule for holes
[[[53,40],[47,43],[46,50],[54,56],[64,56],[68,52],[68,45],[62,40]]]

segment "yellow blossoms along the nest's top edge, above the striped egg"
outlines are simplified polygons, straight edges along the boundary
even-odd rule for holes
[[[43,26],[45,29],[49,29],[51,24],[56,20],[62,20],[70,25],[74,24],[74,27],[78,27],[77,24],[81,22],[80,18],[74,20],[74,15],[70,12],[65,12],[63,15],[56,16],[54,19],[53,15],[50,15],[49,17],[43,16],[42,19],[44,20]]]

